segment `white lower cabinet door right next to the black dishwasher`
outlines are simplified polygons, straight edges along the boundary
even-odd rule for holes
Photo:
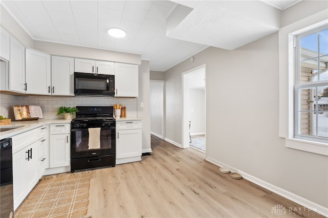
[[[12,156],[12,177],[14,192],[14,210],[25,198],[25,149],[20,150]]]

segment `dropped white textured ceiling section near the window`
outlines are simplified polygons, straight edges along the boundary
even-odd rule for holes
[[[279,30],[212,2],[199,3],[175,28],[169,37],[234,50]],[[178,8],[177,8],[178,10]]]

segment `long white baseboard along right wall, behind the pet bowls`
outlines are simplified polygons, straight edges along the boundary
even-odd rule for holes
[[[254,177],[254,176],[252,176],[252,175],[250,175],[250,174],[248,174],[246,172],[243,172],[241,170],[238,170],[238,169],[236,169],[234,167],[231,167],[231,166],[229,166],[227,164],[224,164],[222,162],[219,162],[219,161],[217,161],[215,159],[206,157],[206,160],[209,161],[209,162],[211,162],[211,163],[213,163],[213,164],[215,164],[215,165],[217,165],[217,166],[219,166],[219,167],[226,167],[226,168],[230,169],[232,172],[238,172],[245,180],[248,180],[248,181],[250,181],[250,182],[252,182],[252,183],[254,183],[256,185],[259,185],[259,186],[261,186],[263,188],[266,188],[266,189],[268,189],[270,191],[273,191],[276,194],[279,194],[279,195],[281,195],[282,197],[284,197],[286,199],[289,199],[289,200],[291,200],[291,201],[293,201],[293,202],[295,202],[297,204],[300,204],[300,205],[302,205],[302,206],[304,206],[306,208],[311,209],[313,212],[316,212],[316,213],[319,213],[319,214],[321,214],[323,216],[328,217],[328,208],[326,208],[326,207],[323,207],[323,206],[321,206],[319,204],[316,204],[316,203],[314,203],[312,201],[309,201],[309,200],[307,200],[307,199],[305,199],[303,197],[300,197],[299,195],[294,194],[294,193],[292,193],[292,192],[290,192],[288,190],[285,190],[283,188],[280,188],[280,187],[277,187],[275,185],[272,185],[272,184],[270,184],[268,182],[265,182],[265,181],[263,181],[261,179],[258,179],[258,178]],[[286,209],[288,210],[289,208],[286,208]]]

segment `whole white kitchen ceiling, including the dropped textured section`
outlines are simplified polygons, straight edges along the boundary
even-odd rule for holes
[[[1,4],[35,40],[141,54],[141,59],[150,60],[151,70],[166,71],[209,46],[233,50],[278,31],[280,10],[299,1],[2,0]],[[124,29],[127,36],[109,36],[111,27]]]

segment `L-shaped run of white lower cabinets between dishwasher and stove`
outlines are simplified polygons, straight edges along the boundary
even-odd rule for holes
[[[45,124],[12,137],[14,210],[47,168],[70,165],[70,127],[70,123]]]

